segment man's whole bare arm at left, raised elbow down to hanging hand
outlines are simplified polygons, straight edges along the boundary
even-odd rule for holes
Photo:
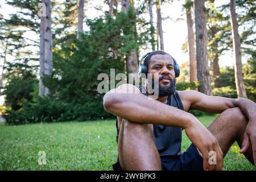
[[[127,87],[137,90],[136,93],[127,92]],[[129,84],[106,93],[104,107],[106,111],[129,121],[182,127],[191,142],[203,154],[204,169],[209,169],[209,151],[213,150],[217,154],[217,165],[214,165],[213,169],[222,170],[223,154],[217,139],[192,114],[159,101],[149,100],[138,88]]]

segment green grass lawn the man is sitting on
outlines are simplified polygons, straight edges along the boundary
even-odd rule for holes
[[[215,117],[199,117],[208,126]],[[0,170],[112,170],[117,159],[115,121],[0,123]],[[182,151],[190,140],[183,133]],[[46,165],[38,152],[46,152]],[[224,160],[225,170],[255,170],[234,144]]]

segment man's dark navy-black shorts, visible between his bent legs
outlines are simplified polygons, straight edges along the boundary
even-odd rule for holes
[[[161,157],[163,171],[203,171],[203,158],[192,143],[179,156]],[[122,171],[119,161],[113,164],[114,171]]]

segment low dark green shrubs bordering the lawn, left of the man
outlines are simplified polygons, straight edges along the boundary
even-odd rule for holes
[[[92,96],[93,97],[93,96]],[[102,98],[84,104],[64,103],[54,98],[38,98],[38,101],[22,100],[19,110],[6,110],[3,117],[10,125],[37,122],[86,121],[92,119],[114,118],[102,106]]]

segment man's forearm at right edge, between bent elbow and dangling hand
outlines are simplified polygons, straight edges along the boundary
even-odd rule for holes
[[[240,107],[243,114],[251,120],[255,120],[256,122],[256,104],[255,102],[247,99],[247,98],[238,98],[234,101],[234,106]]]

